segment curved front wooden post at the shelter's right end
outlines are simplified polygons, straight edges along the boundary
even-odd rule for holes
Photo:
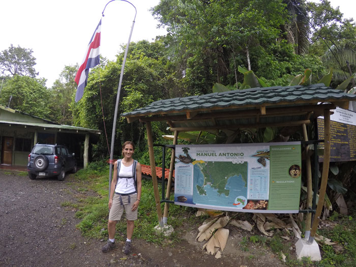
[[[310,238],[308,243],[312,243],[314,241],[314,236],[316,233],[316,229],[318,228],[319,219],[321,215],[322,206],[324,203],[325,191],[327,190],[328,184],[328,174],[329,174],[329,164],[330,164],[330,110],[324,110],[324,160],[322,164],[322,174],[321,174],[321,185],[319,191],[319,200],[318,205],[316,206],[316,213],[313,221],[313,225],[310,232]],[[314,153],[317,153],[314,150]],[[317,189],[314,189],[317,191]],[[316,192],[315,192],[316,193]]]

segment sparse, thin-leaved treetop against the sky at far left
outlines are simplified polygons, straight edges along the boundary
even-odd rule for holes
[[[11,44],[9,49],[0,53],[0,70],[5,75],[36,77],[38,75],[34,68],[36,58],[32,52],[32,49],[14,47]]]

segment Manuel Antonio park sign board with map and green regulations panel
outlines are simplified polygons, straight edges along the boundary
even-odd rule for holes
[[[301,142],[176,145],[174,203],[298,213]]]

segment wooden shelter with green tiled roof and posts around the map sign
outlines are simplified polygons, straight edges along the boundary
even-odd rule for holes
[[[166,122],[174,132],[173,144],[177,143],[179,132],[185,131],[219,131],[230,130],[231,134],[239,129],[263,127],[292,127],[300,126],[304,133],[304,140],[308,141],[306,125],[322,115],[324,117],[324,163],[320,195],[313,225],[311,227],[311,212],[307,224],[311,228],[310,236],[315,236],[318,217],[324,200],[327,186],[330,162],[330,114],[337,106],[347,109],[349,101],[356,99],[356,95],[346,94],[324,84],[308,86],[276,86],[249,88],[201,96],[159,100],[150,105],[122,114],[129,123],[139,120],[146,124],[149,145],[150,163],[152,168],[155,201],[159,224],[162,223],[162,211],[157,188],[155,156],[153,150],[151,122]],[[307,147],[308,149],[308,147]],[[307,150],[306,149],[306,150]],[[306,168],[308,179],[308,206],[312,202],[312,174],[310,153]],[[308,160],[309,159],[309,160]],[[174,152],[170,172],[173,170]],[[170,176],[168,177],[170,178]],[[169,198],[169,180],[166,198]],[[315,192],[315,191],[314,191]],[[164,217],[167,216],[166,203]],[[163,218],[164,218],[163,217]]]

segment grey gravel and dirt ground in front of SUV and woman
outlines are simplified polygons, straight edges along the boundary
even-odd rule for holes
[[[247,232],[233,226],[220,259],[206,254],[195,241],[198,230],[186,226],[175,229],[183,241],[174,246],[135,239],[129,255],[120,242],[102,253],[104,242],[81,236],[75,211],[61,206],[77,201],[73,175],[58,182],[16,174],[0,170],[0,266],[285,266],[268,247],[249,244],[243,250]]]

